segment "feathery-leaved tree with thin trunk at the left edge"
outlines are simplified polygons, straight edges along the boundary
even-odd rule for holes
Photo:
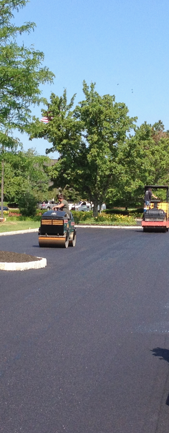
[[[0,0],[0,158],[1,216],[3,216],[3,172],[6,150],[14,150],[17,139],[14,132],[30,131],[31,105],[44,101],[40,84],[51,82],[53,73],[42,67],[44,54],[31,46],[16,42],[17,34],[30,32],[34,23],[15,26],[11,23],[13,11],[19,11],[28,0]]]

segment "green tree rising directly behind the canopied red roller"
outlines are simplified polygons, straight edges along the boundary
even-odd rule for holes
[[[169,132],[164,131],[161,120],[138,127],[125,141],[122,155],[124,167],[116,188],[107,191],[109,200],[126,207],[143,204],[144,185],[169,183]]]

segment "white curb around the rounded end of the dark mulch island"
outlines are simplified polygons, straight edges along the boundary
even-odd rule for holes
[[[40,269],[45,268],[47,265],[47,259],[43,257],[37,257],[34,262],[23,262],[23,263],[15,263],[15,262],[0,262],[0,270],[1,271],[26,271],[28,269]]]

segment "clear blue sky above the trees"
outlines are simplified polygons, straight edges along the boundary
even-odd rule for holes
[[[43,96],[61,95],[66,87],[68,98],[77,93],[77,103],[82,81],[96,81],[100,94],[125,102],[138,125],[160,119],[169,129],[169,1],[31,0],[15,16],[15,23],[25,21],[37,27],[21,40],[44,52],[56,76]],[[40,117],[40,108],[34,113]],[[26,136],[22,142],[25,150],[45,154],[47,142]]]

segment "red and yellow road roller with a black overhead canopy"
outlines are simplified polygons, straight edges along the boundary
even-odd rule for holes
[[[146,185],[145,192],[151,189],[166,189],[166,200],[151,200],[149,208],[144,212],[142,227],[144,232],[169,230],[169,187],[162,185]]]

